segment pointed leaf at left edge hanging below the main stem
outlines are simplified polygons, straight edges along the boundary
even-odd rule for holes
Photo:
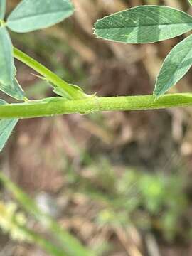
[[[4,100],[0,100],[0,105],[4,104],[6,104],[6,102]],[[4,148],[17,122],[18,119],[16,118],[0,120],[0,151]]]

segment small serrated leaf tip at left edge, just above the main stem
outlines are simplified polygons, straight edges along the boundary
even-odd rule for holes
[[[25,97],[23,89],[21,88],[21,85],[19,85],[16,78],[14,78],[14,82],[12,82],[10,85],[3,85],[0,83],[0,90],[16,100],[23,100]]]

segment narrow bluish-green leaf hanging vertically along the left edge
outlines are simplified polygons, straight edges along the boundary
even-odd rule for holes
[[[14,80],[14,57],[11,38],[6,28],[0,27],[0,83],[10,85]]]

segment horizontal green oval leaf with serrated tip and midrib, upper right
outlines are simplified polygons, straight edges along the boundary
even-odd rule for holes
[[[192,17],[168,6],[137,6],[95,23],[98,38],[122,43],[153,43],[192,29]]]

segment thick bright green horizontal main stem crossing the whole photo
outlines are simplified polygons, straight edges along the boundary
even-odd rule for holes
[[[192,93],[168,94],[156,99],[153,95],[127,97],[90,96],[83,100],[55,100],[0,106],[0,118],[50,117],[56,114],[89,114],[116,110],[154,110],[167,107],[192,106]]]

